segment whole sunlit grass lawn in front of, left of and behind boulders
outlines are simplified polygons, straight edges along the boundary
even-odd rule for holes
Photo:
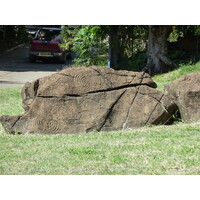
[[[200,64],[153,79],[159,89]],[[0,115],[23,113],[21,88],[0,90]],[[0,174],[200,175],[200,123],[113,132],[9,135],[0,125]]]

